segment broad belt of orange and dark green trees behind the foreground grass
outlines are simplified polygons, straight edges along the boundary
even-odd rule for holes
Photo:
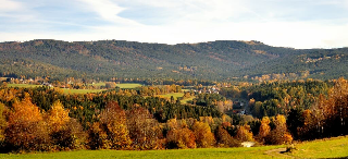
[[[325,88],[327,84],[333,87]],[[226,100],[216,95],[200,95],[195,99],[200,105],[191,106],[158,97],[145,98],[134,89],[65,95],[60,89],[49,87],[1,87],[0,146],[2,151],[170,149],[235,147],[243,142],[288,144],[293,139],[347,135],[346,80],[274,83],[249,89],[259,90],[259,87],[273,85],[284,88],[302,85],[308,89],[306,94],[318,91],[314,86],[327,91],[318,93],[318,98],[309,107],[296,100],[286,113],[246,120],[245,115],[223,114],[216,105],[217,100]],[[279,93],[290,95],[295,91],[284,90]],[[297,90],[301,90],[301,87]],[[272,91],[265,89],[265,93]],[[269,95],[278,97],[273,93],[261,94],[256,99],[265,101],[271,98]],[[246,95],[257,97],[253,94]]]

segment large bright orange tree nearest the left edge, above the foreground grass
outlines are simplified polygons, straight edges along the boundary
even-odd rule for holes
[[[5,130],[7,143],[20,150],[45,150],[49,137],[39,108],[32,103],[28,94],[22,101],[15,100],[9,112]]]

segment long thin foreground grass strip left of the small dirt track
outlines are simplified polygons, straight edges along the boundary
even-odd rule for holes
[[[270,158],[264,151],[274,149],[279,146],[264,146],[252,148],[198,148],[198,149],[173,149],[173,150],[145,150],[145,151],[129,151],[129,150],[78,150],[78,151],[61,151],[61,152],[45,152],[45,154],[27,154],[27,155],[7,155],[0,154],[0,158],[167,158],[167,159],[202,159],[202,158]]]

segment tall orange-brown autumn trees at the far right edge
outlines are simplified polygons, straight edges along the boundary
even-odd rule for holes
[[[320,95],[310,110],[303,111],[300,137],[313,139],[348,134],[348,82],[339,78],[328,91]]]

